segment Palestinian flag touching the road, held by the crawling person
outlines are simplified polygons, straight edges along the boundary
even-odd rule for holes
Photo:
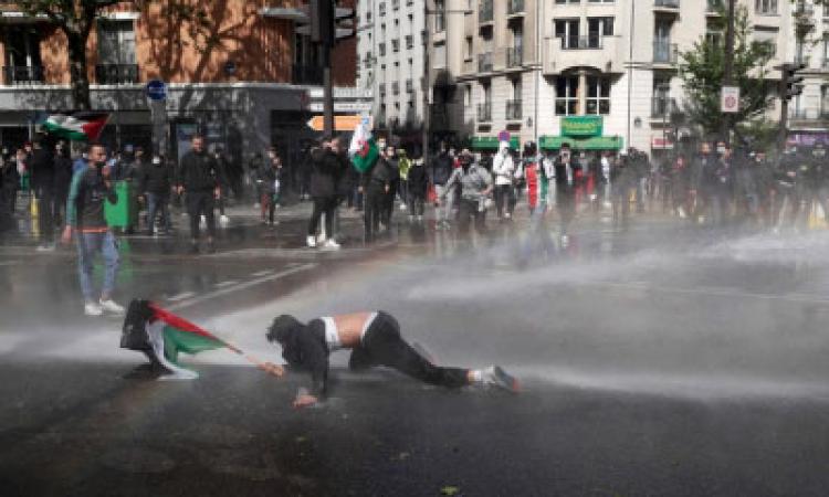
[[[232,346],[192,322],[169,313],[148,300],[133,300],[124,319],[120,347],[139,350],[155,364],[170,374],[161,379],[192,380],[199,376],[178,363],[180,352],[198,353],[203,350]]]

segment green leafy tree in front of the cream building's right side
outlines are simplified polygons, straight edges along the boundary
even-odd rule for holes
[[[725,9],[716,22],[723,31]],[[739,87],[739,112],[733,115],[736,123],[760,117],[774,103],[775,84],[767,80],[768,62],[774,56],[769,42],[752,40],[748,9],[738,6],[734,18],[734,85]],[[720,92],[723,85],[725,44],[722,40],[701,36],[692,50],[680,56],[680,75],[685,88],[685,110],[689,120],[702,128],[705,135],[717,133],[724,116],[720,112]]]

